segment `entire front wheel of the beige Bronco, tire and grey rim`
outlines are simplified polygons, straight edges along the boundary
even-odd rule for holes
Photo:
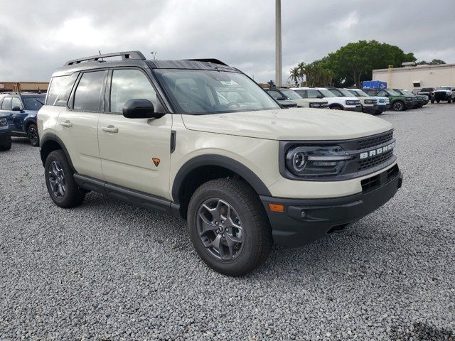
[[[201,185],[188,205],[188,229],[200,258],[228,276],[255,270],[272,249],[272,229],[258,195],[242,180]]]

